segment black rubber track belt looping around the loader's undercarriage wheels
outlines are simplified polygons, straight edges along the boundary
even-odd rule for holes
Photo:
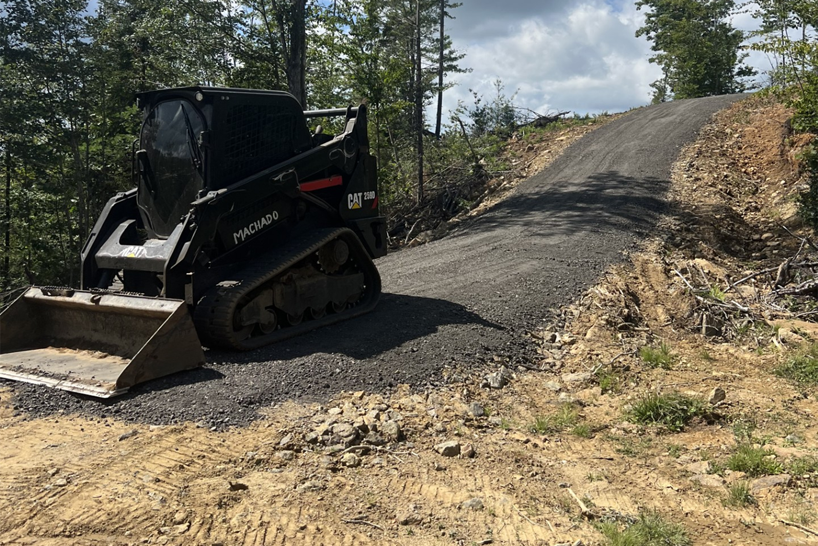
[[[294,266],[310,254],[317,251],[332,239],[342,238],[350,245],[358,266],[361,267],[366,282],[366,293],[355,307],[335,314],[328,314],[321,319],[305,320],[296,326],[288,326],[267,335],[237,340],[233,331],[233,314],[246,294],[280,275],[290,266]],[[371,311],[380,296],[380,275],[375,264],[366,253],[357,235],[348,228],[313,230],[303,237],[293,239],[284,247],[276,248],[274,257],[263,257],[252,266],[246,267],[231,279],[223,280],[209,289],[196,305],[193,320],[205,347],[220,347],[248,351],[270,343],[292,338],[312,329],[334,324],[341,320],[362,315]]]

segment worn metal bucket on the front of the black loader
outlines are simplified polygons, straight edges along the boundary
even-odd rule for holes
[[[109,398],[204,361],[181,300],[33,287],[0,314],[0,378]]]

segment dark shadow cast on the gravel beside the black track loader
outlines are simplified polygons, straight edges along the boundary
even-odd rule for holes
[[[206,351],[212,363],[241,364],[264,360],[288,360],[315,353],[335,353],[363,360],[400,347],[406,342],[438,332],[441,326],[463,324],[504,329],[460,304],[437,298],[383,293],[363,316],[344,320],[297,338],[286,339],[254,351]]]

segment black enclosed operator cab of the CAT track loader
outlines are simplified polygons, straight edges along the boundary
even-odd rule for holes
[[[151,239],[166,239],[207,191],[312,147],[301,105],[287,92],[178,87],[139,93],[137,204]]]

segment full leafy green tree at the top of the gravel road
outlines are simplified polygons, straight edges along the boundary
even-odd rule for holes
[[[645,36],[662,67],[663,78],[654,83],[654,101],[669,95],[676,99],[723,95],[747,89],[744,78],[755,71],[739,53],[744,33],[726,18],[734,0],[638,0],[636,8],[647,7],[645,25],[636,36]]]

